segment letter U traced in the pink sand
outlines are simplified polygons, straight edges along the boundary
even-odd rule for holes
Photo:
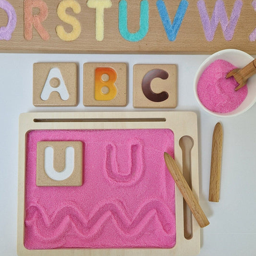
[[[139,139],[133,139],[126,145],[131,148],[130,154],[126,159],[123,159],[127,161],[127,168],[130,169],[129,172],[122,173],[120,171],[117,160],[118,149],[116,145],[108,144],[106,146],[104,174],[110,182],[119,183],[120,185],[133,185],[143,174],[143,146]]]

